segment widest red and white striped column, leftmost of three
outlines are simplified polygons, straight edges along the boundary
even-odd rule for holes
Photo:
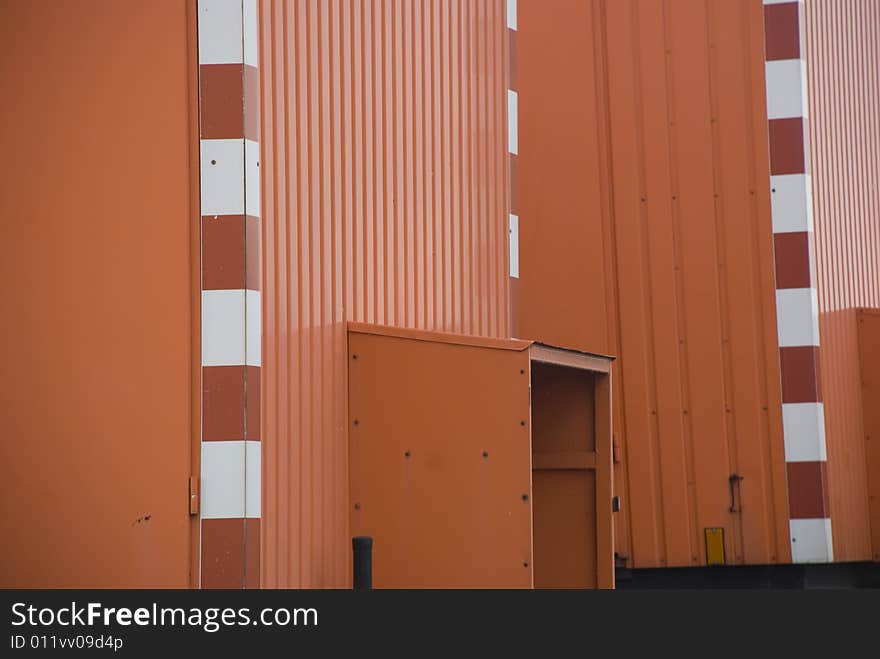
[[[202,588],[260,585],[257,0],[198,0]]]

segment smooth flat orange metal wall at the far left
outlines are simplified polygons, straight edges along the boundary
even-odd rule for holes
[[[190,585],[193,16],[0,9],[3,587]]]

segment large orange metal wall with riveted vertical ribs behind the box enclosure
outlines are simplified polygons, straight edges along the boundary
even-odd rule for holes
[[[520,334],[619,358],[620,562],[788,562],[762,3],[517,23]]]

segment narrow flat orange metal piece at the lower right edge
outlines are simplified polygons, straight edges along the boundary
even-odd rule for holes
[[[871,559],[880,561],[880,309],[858,312]]]

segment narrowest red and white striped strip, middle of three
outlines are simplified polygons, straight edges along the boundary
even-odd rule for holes
[[[519,299],[519,87],[517,86],[516,0],[507,0],[507,208],[510,256],[510,335],[518,332]]]

